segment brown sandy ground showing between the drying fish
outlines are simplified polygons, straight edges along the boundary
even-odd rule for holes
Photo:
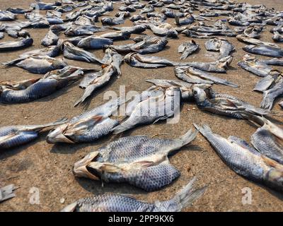
[[[9,6],[28,7],[31,2],[33,1],[1,0],[0,8],[5,9]],[[251,4],[266,4],[269,7],[283,10],[282,5],[279,4],[281,0],[246,0],[246,2]],[[117,7],[118,5],[115,5],[115,8]],[[172,20],[168,21],[173,23]],[[131,23],[127,20],[127,23],[124,25],[131,25]],[[1,53],[1,62],[14,59],[18,54],[28,50],[40,48],[40,40],[45,36],[47,29],[30,29],[29,32],[35,40],[33,47],[16,52]],[[150,34],[150,32],[147,33]],[[6,35],[4,40],[11,40],[11,38]],[[183,37],[183,35],[179,35],[177,40],[169,40],[166,49],[156,54],[156,56],[178,61],[180,54],[178,54],[177,48],[186,40],[189,40],[189,38]],[[243,54],[245,54],[242,50],[245,44],[238,42],[235,38],[229,38],[229,40],[236,47],[236,52],[233,53],[234,59],[231,69],[226,74],[216,74],[216,76],[227,78],[229,81],[241,85],[241,87],[229,88],[224,85],[214,85],[214,88],[221,93],[235,95],[242,100],[259,106],[262,95],[252,91],[259,78],[239,69],[236,65],[241,60],[241,57],[243,57]],[[261,40],[272,42],[269,28],[265,29]],[[204,48],[205,40],[195,41],[200,44],[200,52],[192,54],[186,60],[214,61],[214,57],[209,56],[211,52],[207,52]],[[126,42],[131,41],[115,42],[115,44]],[[94,52],[98,57],[103,57],[101,50]],[[95,64],[69,60],[68,62],[70,65],[98,68]],[[16,67],[0,69],[0,81],[18,81],[33,77],[36,78],[37,75]],[[137,69],[123,64],[122,76],[99,90],[93,96],[88,109],[103,103],[103,94],[105,91],[113,90],[119,93],[120,85],[125,85],[126,90],[141,91],[149,88],[150,84],[145,82],[149,78],[175,79],[173,67],[151,70]],[[0,125],[44,124],[65,116],[74,117],[83,112],[83,108],[73,107],[74,102],[82,93],[83,90],[76,83],[35,102],[17,105],[0,105]],[[279,107],[275,105],[274,109],[279,110]],[[149,126],[140,126],[137,129],[124,133],[123,136],[152,136],[156,133],[170,133],[170,135],[163,137],[177,138],[192,128],[193,122],[197,124],[208,124],[213,131],[221,134],[221,136],[239,136],[246,141],[250,141],[250,136],[256,129],[246,121],[219,117],[214,114],[202,112],[197,109],[196,105],[185,103],[180,114],[180,121],[177,124],[161,122]],[[57,211],[79,198],[91,196],[92,194],[104,194],[105,192],[133,194],[144,201],[165,200],[171,198],[194,175],[198,178],[197,186],[208,185],[208,189],[202,198],[197,200],[192,207],[185,208],[184,211],[283,210],[282,195],[238,176],[221,161],[209,143],[200,134],[192,142],[192,146],[183,148],[179,153],[171,157],[171,163],[180,170],[181,176],[170,186],[166,186],[161,191],[151,193],[146,193],[128,184],[104,184],[102,186],[101,182],[93,182],[90,179],[77,179],[73,176],[71,171],[74,162],[91,150],[96,150],[101,145],[113,141],[119,136],[107,136],[95,143],[50,145],[45,142],[46,135],[46,132],[41,133],[36,141],[0,153],[0,186],[11,183],[21,186],[21,188],[16,190],[16,198],[0,203],[0,211]],[[200,151],[200,149],[203,151]],[[250,205],[243,205],[242,203],[242,189],[246,187],[252,191],[252,203]],[[31,193],[34,191],[33,188],[37,188],[40,191],[39,204],[30,203]],[[64,198],[64,203],[60,203],[60,199],[62,198]]]

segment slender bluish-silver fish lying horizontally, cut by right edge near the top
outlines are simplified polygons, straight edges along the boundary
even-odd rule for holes
[[[261,44],[261,45],[250,44],[246,47],[243,47],[243,50],[251,54],[259,54],[266,57],[283,57],[283,50],[281,48],[271,47],[266,44]]]

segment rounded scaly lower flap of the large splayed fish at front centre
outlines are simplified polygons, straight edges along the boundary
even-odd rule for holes
[[[177,177],[180,177],[178,169],[170,163],[164,162],[135,170],[129,174],[127,182],[146,191],[156,191],[167,184],[171,184]]]

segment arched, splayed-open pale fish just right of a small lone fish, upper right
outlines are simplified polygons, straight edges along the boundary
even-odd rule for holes
[[[205,48],[208,51],[220,52],[219,59],[229,57],[231,52],[235,50],[233,44],[223,38],[214,38],[205,42]]]

